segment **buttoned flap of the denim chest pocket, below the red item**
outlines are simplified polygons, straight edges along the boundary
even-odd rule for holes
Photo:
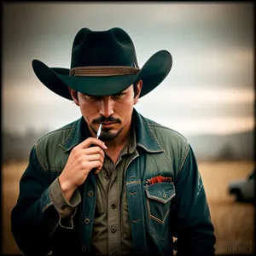
[[[175,195],[174,183],[155,183],[144,186],[144,188],[149,199],[160,201],[163,204],[166,204]]]

